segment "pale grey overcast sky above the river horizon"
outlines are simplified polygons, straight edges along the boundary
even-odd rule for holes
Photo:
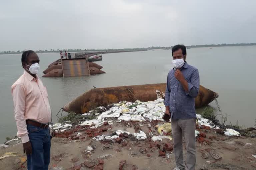
[[[0,7],[0,51],[256,42],[255,0],[1,0]]]

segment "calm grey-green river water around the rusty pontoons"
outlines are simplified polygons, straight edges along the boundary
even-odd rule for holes
[[[219,93],[222,113],[227,113],[228,123],[237,121],[244,127],[255,124],[256,71],[254,59],[256,46],[190,48],[187,61],[198,68],[200,84]],[[38,53],[40,76],[48,65],[59,58],[58,53]],[[95,87],[110,87],[163,83],[173,67],[171,50],[149,50],[103,54],[96,62],[106,74],[87,77],[41,78],[47,87],[52,117],[76,96]],[[0,55],[0,144],[5,137],[16,135],[11,85],[23,73],[21,54]],[[212,102],[211,106],[216,107]],[[200,112],[202,109],[199,109]]]

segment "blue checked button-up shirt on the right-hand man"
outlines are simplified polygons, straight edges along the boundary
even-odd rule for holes
[[[185,62],[180,71],[188,82],[188,92],[185,92],[182,84],[174,77],[175,70],[170,70],[167,76],[165,106],[170,107],[171,118],[174,120],[196,118],[195,98],[199,91],[198,69]]]

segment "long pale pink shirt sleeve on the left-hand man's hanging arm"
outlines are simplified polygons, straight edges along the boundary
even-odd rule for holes
[[[17,136],[21,137],[22,143],[29,141],[27,124],[25,120],[26,92],[21,84],[12,87],[12,96],[14,103],[14,118],[17,125]]]

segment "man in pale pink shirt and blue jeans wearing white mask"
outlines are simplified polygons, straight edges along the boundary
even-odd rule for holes
[[[51,109],[46,88],[37,75],[39,57],[32,50],[24,51],[21,62],[25,71],[11,87],[17,136],[27,154],[28,170],[48,170]]]

